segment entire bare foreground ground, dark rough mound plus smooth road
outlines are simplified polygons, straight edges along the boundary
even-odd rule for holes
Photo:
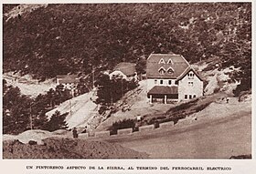
[[[251,111],[105,139],[45,138],[3,144],[4,159],[229,159],[251,154]]]

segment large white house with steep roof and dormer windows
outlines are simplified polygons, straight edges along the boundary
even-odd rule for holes
[[[151,54],[146,62],[146,77],[150,103],[203,96],[202,78],[181,55]]]

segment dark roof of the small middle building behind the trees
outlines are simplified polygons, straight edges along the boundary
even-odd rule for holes
[[[116,71],[116,70],[121,71],[121,72],[123,72],[124,75],[129,77],[129,76],[133,76],[134,73],[136,72],[135,66],[136,66],[136,64],[134,64],[134,63],[122,62],[122,63],[119,63],[118,65],[116,65],[113,68],[113,71]]]

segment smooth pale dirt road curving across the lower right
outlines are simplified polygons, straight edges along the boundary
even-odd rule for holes
[[[107,140],[146,152],[152,159],[229,159],[251,154],[251,111]]]

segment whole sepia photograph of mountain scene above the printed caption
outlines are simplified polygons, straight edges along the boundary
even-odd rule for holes
[[[251,3],[2,4],[3,159],[251,159]]]

